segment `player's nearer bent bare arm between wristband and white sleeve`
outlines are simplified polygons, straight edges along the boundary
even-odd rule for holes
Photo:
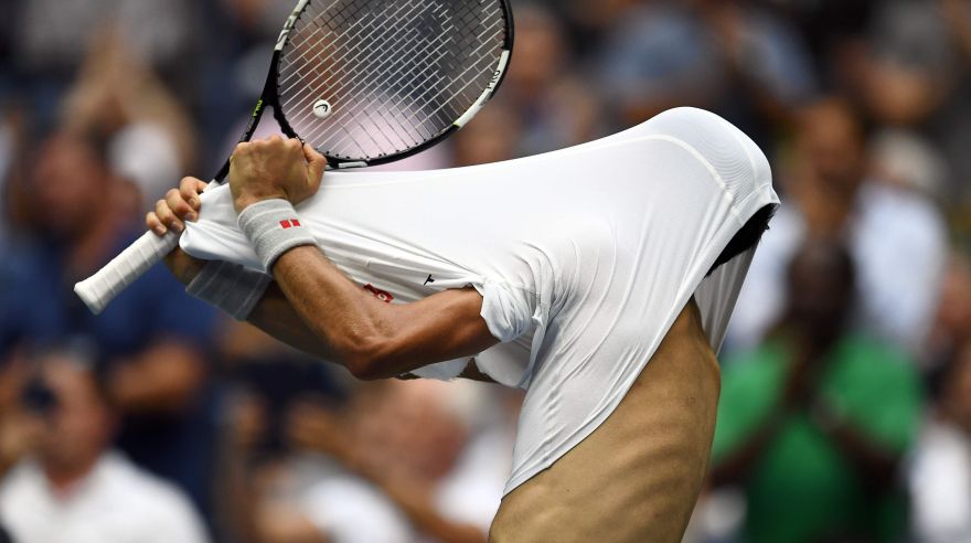
[[[480,316],[482,297],[471,288],[446,290],[414,304],[384,304],[341,274],[313,246],[287,252],[273,273],[318,349],[359,379],[402,375],[436,362],[472,356],[498,343]],[[281,329],[273,315],[256,318],[260,328],[275,328],[267,331],[278,338],[294,331]],[[296,322],[288,324],[300,328]],[[307,350],[306,345],[295,347]]]

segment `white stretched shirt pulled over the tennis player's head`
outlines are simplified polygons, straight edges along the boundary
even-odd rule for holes
[[[182,247],[258,269],[228,189],[203,202]],[[713,114],[679,108],[509,162],[331,172],[298,211],[338,267],[396,301],[468,285],[482,294],[482,317],[503,343],[477,363],[529,391],[509,492],[610,415],[728,241],[778,202],[750,139]],[[698,297],[715,348],[747,265],[747,256],[728,263],[709,279],[718,288]],[[449,379],[465,365],[419,373]]]

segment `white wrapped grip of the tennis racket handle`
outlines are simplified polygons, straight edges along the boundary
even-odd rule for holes
[[[169,231],[162,237],[146,232],[97,274],[74,286],[74,291],[95,315],[136,279],[160,263],[175,246],[179,234]]]

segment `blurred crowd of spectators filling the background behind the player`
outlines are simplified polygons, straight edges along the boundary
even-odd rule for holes
[[[484,541],[516,391],[355,383],[161,268],[97,318],[71,290],[181,175],[221,166],[291,3],[4,3],[0,542]],[[534,155],[684,105],[772,162],[783,207],[722,351],[686,541],[971,541],[971,1],[512,6],[498,97],[386,168]]]

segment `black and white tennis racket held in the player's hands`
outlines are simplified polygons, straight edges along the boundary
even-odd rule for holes
[[[271,108],[284,134],[344,169],[399,160],[465,126],[502,83],[506,0],[300,0],[239,141]],[[212,187],[226,179],[230,161]],[[179,244],[147,232],[74,287],[95,313]]]

